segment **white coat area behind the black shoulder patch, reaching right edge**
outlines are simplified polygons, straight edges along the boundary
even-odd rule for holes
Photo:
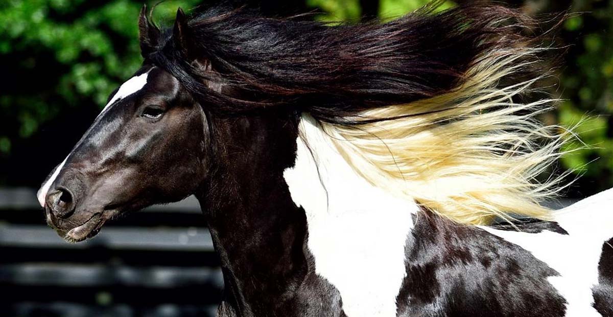
[[[565,316],[601,316],[592,307],[592,288],[598,284],[603,243],[613,237],[612,203],[613,189],[609,189],[555,213],[554,220],[568,235],[481,228],[530,251],[560,273],[548,280],[566,299]]]

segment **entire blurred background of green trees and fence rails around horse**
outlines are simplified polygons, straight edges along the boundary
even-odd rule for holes
[[[427,1],[237,2],[265,15],[314,12],[318,20],[356,23],[397,17]],[[563,194],[578,199],[610,188],[613,1],[503,2],[534,17],[580,13],[558,33],[558,45],[568,49],[550,92],[563,101],[543,120],[573,126],[587,118],[576,131],[588,147],[560,160],[562,169],[582,175]],[[154,17],[169,24],[177,7],[200,3],[166,1]],[[139,68],[142,4],[0,1],[0,316],[208,316],[219,300],[218,259],[196,202],[149,208],[110,224],[93,240],[69,245],[45,226],[34,198],[110,92]]]

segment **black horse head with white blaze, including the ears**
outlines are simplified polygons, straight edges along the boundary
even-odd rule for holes
[[[175,38],[181,38],[178,13]],[[140,42],[147,57],[160,34],[143,8]],[[105,221],[194,193],[207,175],[207,115],[169,72],[148,63],[110,97],[37,197],[59,235],[81,241]]]

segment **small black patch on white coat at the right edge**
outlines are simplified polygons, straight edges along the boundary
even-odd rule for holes
[[[603,317],[613,317],[613,238],[603,243],[598,262],[598,285],[592,288],[593,307]]]

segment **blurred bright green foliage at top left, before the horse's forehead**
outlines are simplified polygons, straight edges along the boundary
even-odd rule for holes
[[[137,29],[142,1],[90,2],[0,2],[3,75],[15,78],[15,90],[1,94],[0,109],[17,122],[17,129],[12,124],[0,127],[0,154],[9,153],[12,143],[37,132],[60,110],[102,107],[142,63]],[[179,3],[189,8],[197,2],[163,2],[155,17],[169,20]]]

